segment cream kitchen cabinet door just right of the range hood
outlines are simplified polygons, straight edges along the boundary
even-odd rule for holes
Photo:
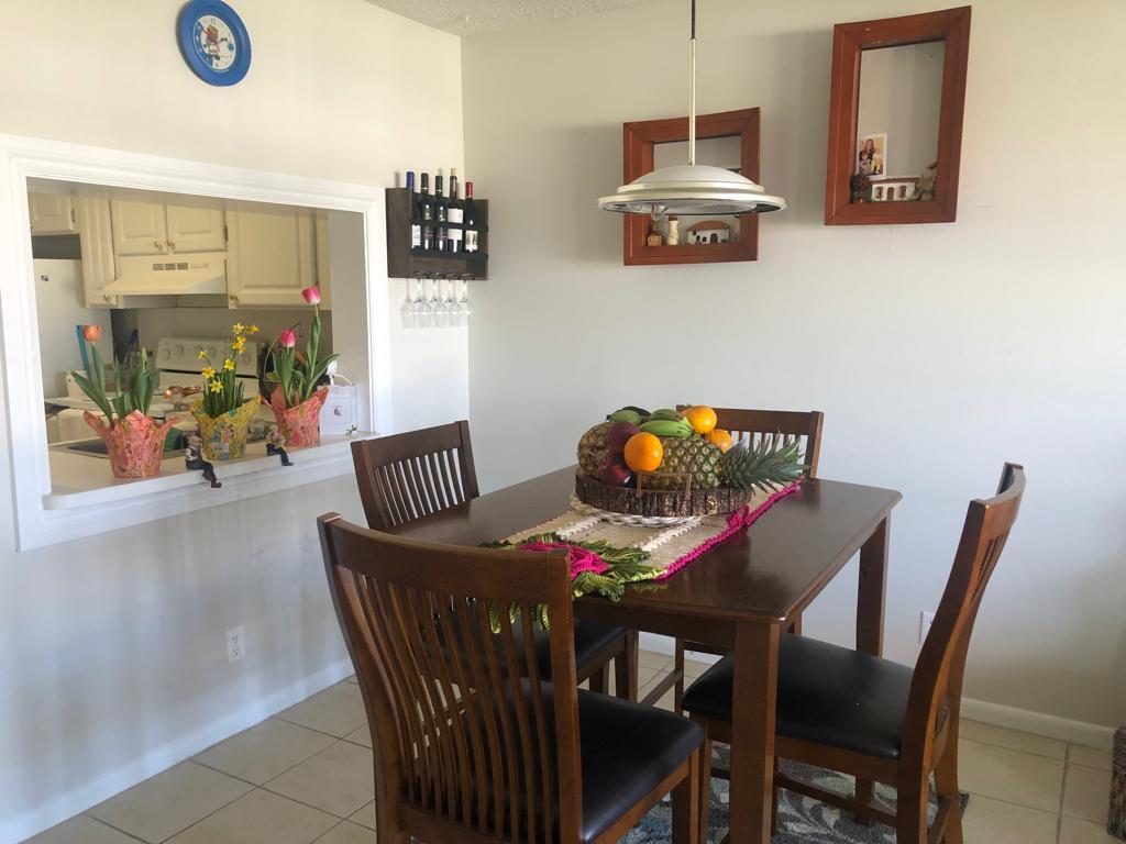
[[[328,261],[318,260],[319,226],[312,212],[229,212],[226,253],[227,302],[231,307],[304,305],[301,291],[322,286]]]

